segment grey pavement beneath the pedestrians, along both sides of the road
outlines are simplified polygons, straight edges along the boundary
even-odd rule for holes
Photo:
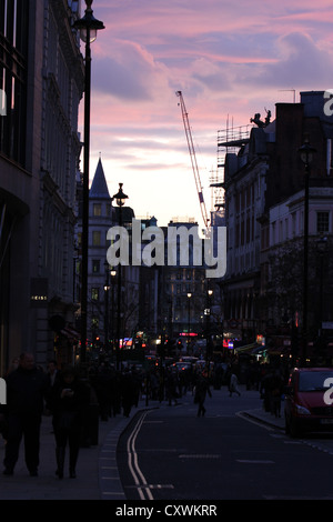
[[[243,388],[243,390],[242,390]],[[241,387],[242,394],[246,394]],[[221,394],[225,393],[225,388]],[[259,392],[253,395],[251,405],[242,413],[254,422],[264,422],[266,425],[283,429],[283,411],[281,418],[275,418],[262,408]],[[216,396],[219,391],[214,393]],[[64,468],[64,478],[59,480],[56,475],[56,444],[52,432],[51,416],[43,416],[41,424],[40,465],[38,476],[30,476],[24,463],[23,442],[14,469],[14,474],[7,476],[0,468],[0,500],[118,500],[125,501],[125,495],[119,478],[117,465],[117,444],[121,433],[125,430],[135,413],[151,408],[164,408],[158,401],[149,401],[143,396],[138,408],[133,408],[131,415],[124,418],[117,415],[108,421],[99,422],[99,443],[89,448],[81,448],[77,465],[77,478],[70,479],[68,474],[68,454]],[[0,462],[3,462],[4,441],[0,436]]]

